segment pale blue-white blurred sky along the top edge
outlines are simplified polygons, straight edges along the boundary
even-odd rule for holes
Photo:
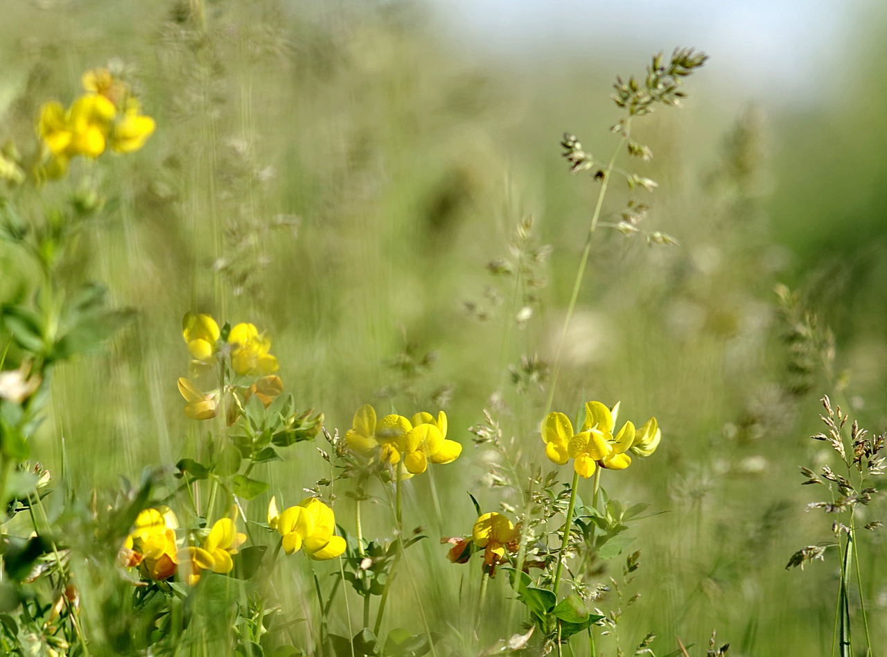
[[[639,51],[694,46],[715,84],[776,105],[804,104],[821,80],[860,55],[880,0],[431,0],[437,20],[471,51],[557,58],[588,51],[636,60]],[[725,91],[727,91],[725,89]]]

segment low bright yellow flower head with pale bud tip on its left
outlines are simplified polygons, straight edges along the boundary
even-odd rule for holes
[[[333,509],[316,497],[308,497],[298,506],[290,506],[280,513],[277,500],[271,497],[268,526],[277,529],[287,554],[303,548],[311,559],[324,560],[334,559],[345,551],[345,539],[334,535]]]

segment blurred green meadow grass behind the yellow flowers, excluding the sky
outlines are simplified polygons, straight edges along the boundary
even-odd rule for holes
[[[736,655],[835,653],[841,559],[827,552],[825,563],[803,572],[784,567],[804,544],[836,542],[830,520],[805,512],[821,496],[798,485],[799,466],[818,472],[831,463],[828,449],[807,440],[820,431],[817,400],[844,395],[842,406],[873,434],[883,426],[877,400],[887,352],[875,324],[883,319],[883,264],[870,258],[863,271],[853,257],[866,249],[853,251],[849,240],[841,262],[823,261],[810,245],[817,236],[835,240],[834,222],[808,229],[809,212],[784,190],[770,200],[773,169],[797,153],[768,158],[773,128],[760,112],[737,107],[732,125],[711,121],[704,91],[694,89],[684,110],[638,121],[632,136],[655,158],[622,157],[618,166],[660,187],[629,194],[614,182],[595,215],[597,167],[570,176],[557,142],[575,131],[604,165],[616,148],[608,129],[620,114],[608,85],[625,72],[602,63],[585,62],[581,83],[572,72],[563,82],[523,72],[527,82],[515,88],[429,34],[410,5],[358,11],[195,0],[11,11],[11,24],[35,27],[0,36],[10,61],[4,138],[25,151],[43,102],[74,98],[82,72],[114,58],[131,67],[128,79],[157,122],[137,153],[103,156],[100,166],[74,161],[71,186],[46,184],[28,208],[66,202],[78,181],[106,195],[103,216],[82,224],[59,276],[68,289],[101,281],[109,306],[135,310],[101,353],[51,373],[46,421],[30,448],[59,482],[43,498],[56,519],[47,536],[89,553],[90,521],[132,497],[116,492],[129,488],[121,477],[137,488],[146,465],[166,468],[152,497],[159,504],[177,485],[179,459],[206,460],[206,435],[223,432],[223,423],[186,418],[176,381],[189,362],[181,317],[209,313],[271,336],[286,392],[297,409],[322,412],[331,436],[344,438],[365,403],[380,417],[446,411],[447,437],[463,452],[401,484],[400,536],[420,528],[427,538],[403,551],[384,623],[430,637],[429,653],[482,654],[526,634],[530,616],[506,574],[482,584],[480,558],[453,564],[438,539],[470,534],[478,512],[468,491],[483,512],[514,520],[532,506],[523,489],[537,468],[569,484],[572,468],[545,458],[539,427],[552,410],[573,420],[588,400],[621,401],[638,425],[655,415],[663,442],[653,458],[601,477],[609,498],[649,503],[655,515],[632,522],[634,541],[615,559],[589,557],[578,585],[592,611],[614,623],[561,650],[642,654],[646,646],[635,646],[654,632],[649,648],[660,657],[681,654],[679,645],[705,654],[726,643]],[[714,138],[718,130],[723,136]],[[792,181],[800,168],[794,162],[779,175]],[[651,206],[639,227],[673,235],[679,246],[648,247],[640,235],[598,228],[577,285],[593,215],[618,223],[632,198]],[[871,235],[883,244],[883,231]],[[12,246],[0,259],[0,300],[27,302],[38,270]],[[774,293],[783,281],[797,297]],[[0,332],[3,345],[9,334]],[[502,429],[498,444],[475,445],[485,410]],[[281,450],[283,462],[252,471],[270,487],[243,502],[251,522],[241,530],[248,544],[268,545],[265,559],[279,536],[256,523],[266,521],[272,495],[282,510],[306,497],[304,489],[317,490],[333,505],[340,535],[357,536],[355,480],[337,480],[339,464],[318,450],[334,455],[318,434]],[[503,481],[509,469],[523,477],[519,485]],[[322,479],[332,484],[318,486]],[[395,487],[371,480],[365,489],[362,535],[397,544]],[[205,509],[210,487],[194,490],[196,508]],[[577,495],[591,504],[593,480],[579,481]],[[550,561],[566,499],[543,523]],[[881,508],[859,513],[878,520]],[[34,513],[42,527],[39,506]],[[26,515],[6,533],[27,536]],[[118,528],[121,537],[129,531]],[[883,539],[864,533],[847,618],[856,654],[868,645],[878,654],[887,638]],[[524,544],[520,554],[534,547]],[[636,550],[640,567],[626,573]],[[328,613],[318,611],[318,588],[326,599],[344,572],[339,559],[280,553],[255,589],[209,576],[200,595],[183,589],[165,601],[161,621],[133,611],[136,589],[121,585],[113,553],[96,559],[104,569],[68,565],[80,605],[68,617],[80,622],[67,636],[82,633],[91,654],[250,654],[258,648],[247,638],[262,639],[258,631],[247,637],[245,619],[269,609],[269,654],[335,653],[318,647],[321,632],[353,637],[363,627],[362,599],[344,583]],[[608,587],[600,596],[599,584]],[[41,594],[52,598],[49,590]],[[151,604],[161,609],[159,600]],[[712,630],[718,641],[709,648]],[[525,650],[541,651],[533,640]],[[24,630],[4,641],[20,654],[50,654],[50,643]],[[86,654],[82,645],[54,649]]]

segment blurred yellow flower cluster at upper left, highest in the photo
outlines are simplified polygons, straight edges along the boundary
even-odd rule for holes
[[[141,113],[130,87],[106,68],[82,76],[84,93],[69,107],[57,100],[43,104],[37,132],[45,149],[47,176],[60,177],[78,155],[97,158],[107,149],[132,153],[154,131],[154,120]]]

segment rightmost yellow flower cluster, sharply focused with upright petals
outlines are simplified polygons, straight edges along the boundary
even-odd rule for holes
[[[588,478],[597,467],[624,470],[632,465],[631,451],[636,456],[652,454],[662,433],[656,418],[649,418],[639,429],[625,422],[616,435],[619,403],[608,408],[600,402],[585,404],[585,422],[574,433],[569,418],[560,412],[549,413],[542,424],[542,440],[546,442],[546,456],[558,465],[573,459],[578,474]]]

